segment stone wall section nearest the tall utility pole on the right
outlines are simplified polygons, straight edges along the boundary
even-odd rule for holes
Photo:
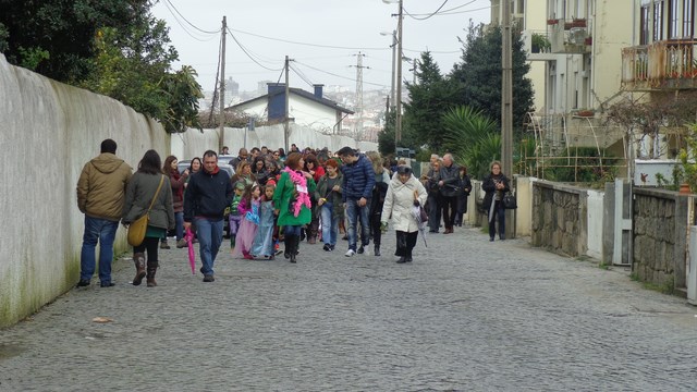
[[[588,250],[587,191],[537,181],[533,186],[533,246],[567,256]]]

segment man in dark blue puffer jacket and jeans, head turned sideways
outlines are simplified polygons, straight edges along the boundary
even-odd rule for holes
[[[345,256],[351,257],[356,253],[362,254],[370,243],[370,197],[375,186],[375,171],[372,163],[364,155],[356,154],[351,147],[344,147],[337,151],[344,162],[342,172],[344,182],[342,185],[342,200],[346,207],[348,228],[348,250]],[[360,219],[360,247],[356,249],[356,220]]]

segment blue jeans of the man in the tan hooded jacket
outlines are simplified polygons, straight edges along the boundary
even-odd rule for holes
[[[95,274],[95,247],[99,242],[99,281],[111,283],[111,260],[113,259],[113,238],[119,229],[118,221],[85,216],[85,234],[80,254],[80,279],[90,280]]]

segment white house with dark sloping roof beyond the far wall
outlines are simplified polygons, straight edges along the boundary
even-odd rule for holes
[[[268,83],[266,95],[228,107],[225,110],[243,112],[269,123],[283,122],[285,119],[285,84]],[[289,120],[326,133],[338,134],[343,119],[353,111],[340,107],[337,102],[322,97],[323,85],[315,85],[315,93],[301,88],[290,88]]]

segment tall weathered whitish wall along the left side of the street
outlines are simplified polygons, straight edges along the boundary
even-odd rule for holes
[[[136,167],[170,137],[120,102],[22,68],[0,54],[0,327],[30,315],[80,279],[84,216],[75,186],[105,138]],[[120,229],[117,253],[130,250]]]

